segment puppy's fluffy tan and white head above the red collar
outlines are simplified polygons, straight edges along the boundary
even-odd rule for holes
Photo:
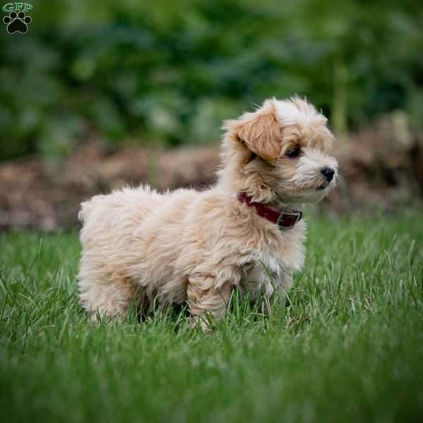
[[[267,200],[319,202],[336,185],[327,119],[303,99],[269,99],[253,113],[226,121],[226,137],[242,152],[238,163],[250,192]],[[269,197],[270,196],[270,197]],[[260,196],[259,196],[260,197]]]

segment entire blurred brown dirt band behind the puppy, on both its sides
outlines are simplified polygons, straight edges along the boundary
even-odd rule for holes
[[[397,126],[395,119],[382,119],[350,137],[336,154],[343,180],[321,207],[394,209],[422,198],[423,137]],[[218,164],[217,146],[159,152],[111,150],[101,142],[88,142],[65,159],[6,162],[0,165],[0,228],[73,225],[80,202],[123,185],[204,188],[214,182]]]

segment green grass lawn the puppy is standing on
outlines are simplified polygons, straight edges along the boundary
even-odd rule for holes
[[[75,233],[1,235],[2,422],[390,422],[423,415],[423,213],[309,219],[305,270],[269,318],[233,299],[92,325]]]

